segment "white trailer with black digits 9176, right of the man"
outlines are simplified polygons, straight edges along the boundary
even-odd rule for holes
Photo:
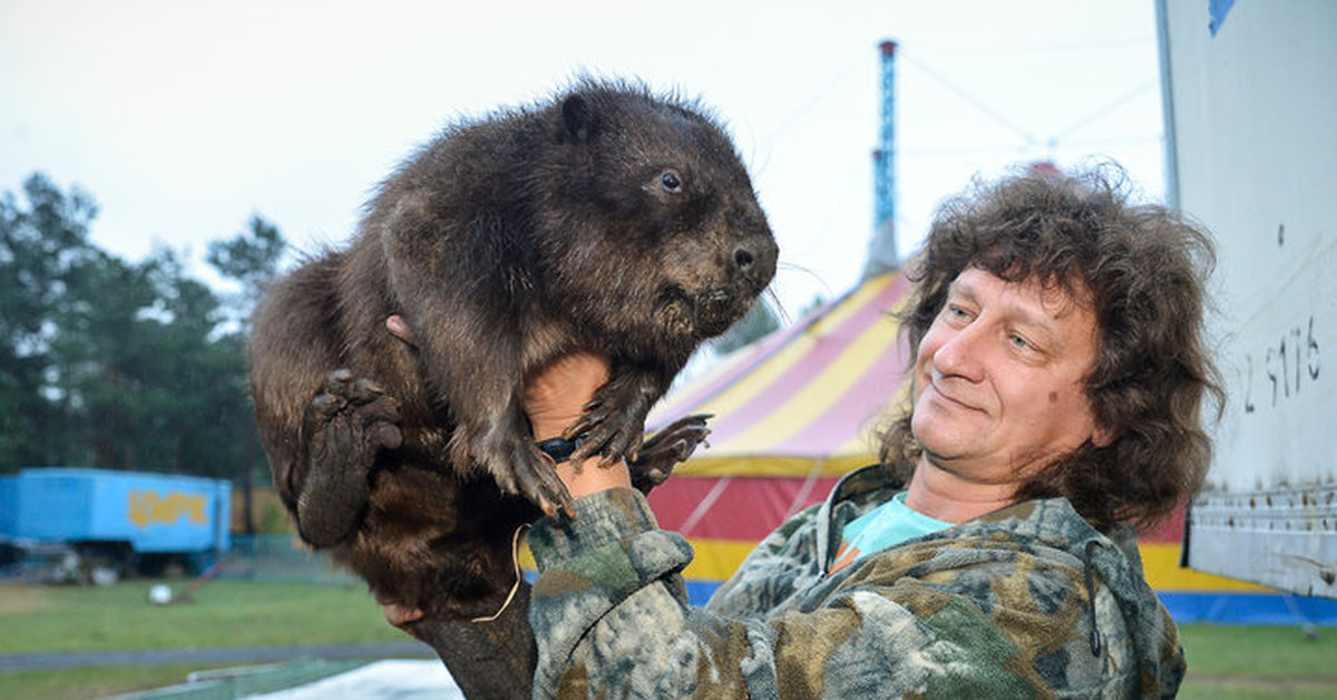
[[[1167,193],[1218,241],[1193,569],[1337,597],[1337,3],[1157,0]]]

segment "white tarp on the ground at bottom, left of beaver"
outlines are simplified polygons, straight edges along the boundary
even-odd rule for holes
[[[437,660],[390,660],[277,693],[245,700],[464,700]]]

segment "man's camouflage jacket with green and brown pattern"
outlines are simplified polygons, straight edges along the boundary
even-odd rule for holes
[[[852,472],[763,539],[705,608],[691,547],[612,490],[529,534],[535,699],[1173,697],[1178,630],[1130,526],[1029,501],[825,572],[846,522],[885,502]],[[1092,594],[1094,593],[1094,594]]]

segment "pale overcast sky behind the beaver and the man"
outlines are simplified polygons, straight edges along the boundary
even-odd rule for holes
[[[340,245],[447,123],[580,72],[634,76],[727,124],[793,315],[864,265],[882,39],[900,44],[902,253],[943,197],[1009,163],[1111,158],[1162,197],[1151,0],[4,0],[0,190],[37,170],[78,185],[100,205],[99,245],[128,260],[168,245],[214,281],[207,242],[251,213],[301,250]]]

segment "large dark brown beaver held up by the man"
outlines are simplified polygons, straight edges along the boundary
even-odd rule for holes
[[[528,636],[528,668],[476,673],[508,661],[461,652],[488,642],[461,621],[516,585],[516,527],[571,514],[524,379],[571,352],[610,357],[567,436],[576,459],[628,459],[647,489],[705,431],[689,419],[642,450],[646,414],[775,257],[746,167],[695,102],[587,78],[448,127],[380,185],[346,249],[273,282],[254,315],[257,420],[298,533],[382,602],[422,610],[410,632],[461,687],[463,672],[528,688],[524,590],[484,634]],[[385,331],[392,316],[412,343]],[[505,681],[471,697],[528,695]]]

